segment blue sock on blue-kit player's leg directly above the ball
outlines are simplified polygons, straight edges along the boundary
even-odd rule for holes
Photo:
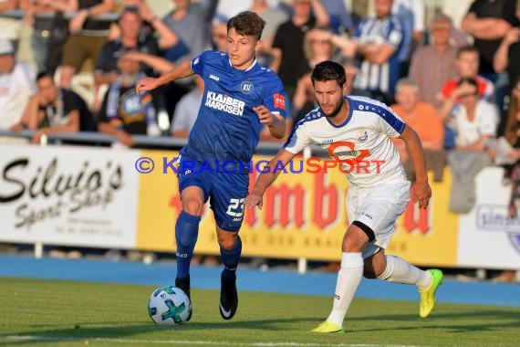
[[[190,276],[193,248],[199,236],[200,216],[193,216],[182,211],[175,224],[175,240],[177,241],[177,278]]]

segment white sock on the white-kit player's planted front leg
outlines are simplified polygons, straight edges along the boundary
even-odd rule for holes
[[[363,278],[363,258],[361,253],[341,254],[341,268],[338,272],[332,311],[328,315],[328,321],[342,326],[348,307],[354,299],[359,283]]]

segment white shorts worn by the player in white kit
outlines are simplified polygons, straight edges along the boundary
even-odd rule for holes
[[[369,188],[348,187],[348,220],[369,226],[376,237],[363,249],[363,258],[388,247],[395,223],[410,201],[410,185],[410,181],[403,181]]]

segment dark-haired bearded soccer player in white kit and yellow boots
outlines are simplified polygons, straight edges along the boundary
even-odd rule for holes
[[[402,258],[385,255],[394,224],[410,197],[420,208],[427,208],[432,196],[419,137],[379,101],[345,96],[345,69],[338,63],[317,64],[311,79],[319,107],[296,123],[284,148],[268,167],[286,165],[314,142],[328,151],[348,178],[348,220],[352,224],[343,237],[333,307],[327,320],[312,331],[344,331],[343,320],[363,276],[417,286],[421,295],[420,317],[426,318],[433,310],[442,271],[423,271]],[[392,137],[406,143],[417,175],[412,186]],[[266,171],[259,175],[245,199],[249,208],[262,208],[265,189],[282,170]]]

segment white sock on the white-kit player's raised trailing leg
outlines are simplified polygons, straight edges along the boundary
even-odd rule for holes
[[[416,268],[403,258],[395,256],[385,256],[387,258],[387,267],[378,279],[385,279],[389,282],[397,282],[404,284],[414,284],[418,289],[424,290],[432,285],[432,276],[428,271],[422,271]]]

